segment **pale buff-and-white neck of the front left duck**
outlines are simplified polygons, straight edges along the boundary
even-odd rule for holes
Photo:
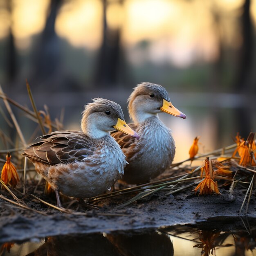
[[[95,118],[92,115],[83,116],[81,120],[81,129],[85,135],[90,139],[101,139],[106,135],[109,135],[109,131],[99,129],[94,122]]]

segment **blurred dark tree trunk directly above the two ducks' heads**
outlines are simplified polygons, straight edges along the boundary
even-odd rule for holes
[[[119,72],[120,29],[108,27],[106,10],[108,2],[103,1],[103,40],[97,59],[94,85],[97,88],[115,87]]]

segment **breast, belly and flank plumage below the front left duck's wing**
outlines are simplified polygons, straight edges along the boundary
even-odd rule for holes
[[[45,164],[32,159],[36,171],[65,195],[89,198],[109,189],[122,174],[126,160],[120,146],[110,136],[97,140],[92,155],[82,161]]]

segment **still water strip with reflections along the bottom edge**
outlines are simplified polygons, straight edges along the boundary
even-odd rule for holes
[[[253,256],[253,223],[255,220],[243,220],[243,228],[231,225],[232,231],[178,225],[156,230],[34,238],[21,244],[9,243],[9,252],[4,249],[1,256]]]

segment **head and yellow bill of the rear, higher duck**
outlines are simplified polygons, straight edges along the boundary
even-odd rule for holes
[[[175,117],[186,118],[186,115],[173,106],[164,87],[148,82],[140,83],[134,88],[128,99],[128,110],[130,118],[135,124],[143,122],[161,111]]]

